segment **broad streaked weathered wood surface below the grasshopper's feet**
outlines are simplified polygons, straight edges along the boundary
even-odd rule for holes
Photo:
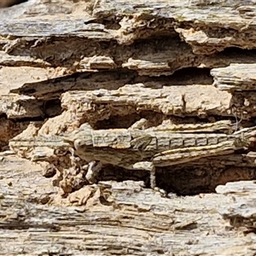
[[[142,183],[105,182],[61,199],[39,166],[27,160],[4,156],[1,170],[0,237],[2,245],[9,244],[2,246],[6,255],[213,256],[251,255],[254,249],[253,236],[230,229],[218,214],[218,206],[232,202],[228,196],[166,198]]]

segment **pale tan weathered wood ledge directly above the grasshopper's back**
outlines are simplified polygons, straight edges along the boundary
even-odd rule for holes
[[[232,96],[220,93],[212,86],[163,86],[154,89],[146,85],[127,84],[118,90],[70,91],[62,95],[62,108],[77,109],[78,115],[83,113],[89,122],[147,110],[166,116],[232,115]]]

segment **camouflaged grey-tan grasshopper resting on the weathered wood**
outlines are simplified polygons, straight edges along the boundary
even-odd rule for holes
[[[86,174],[90,183],[95,181],[102,166],[111,164],[128,170],[149,171],[150,186],[154,189],[155,167],[231,154],[248,148],[256,134],[256,126],[225,134],[207,132],[211,131],[207,125],[190,125],[189,130],[181,127],[173,131],[168,127],[140,130],[136,125],[132,129],[93,130],[84,124],[70,136],[63,137],[63,142],[69,143],[81,159],[90,163]],[[214,125],[213,130],[222,130],[221,125],[229,126],[224,121]]]

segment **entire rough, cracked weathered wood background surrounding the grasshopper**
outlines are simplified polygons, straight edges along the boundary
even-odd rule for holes
[[[1,1],[0,254],[255,255],[255,139],[157,166],[158,191],[111,162],[88,184],[72,149],[39,141],[140,119],[163,134],[255,126],[255,12],[246,0]]]

